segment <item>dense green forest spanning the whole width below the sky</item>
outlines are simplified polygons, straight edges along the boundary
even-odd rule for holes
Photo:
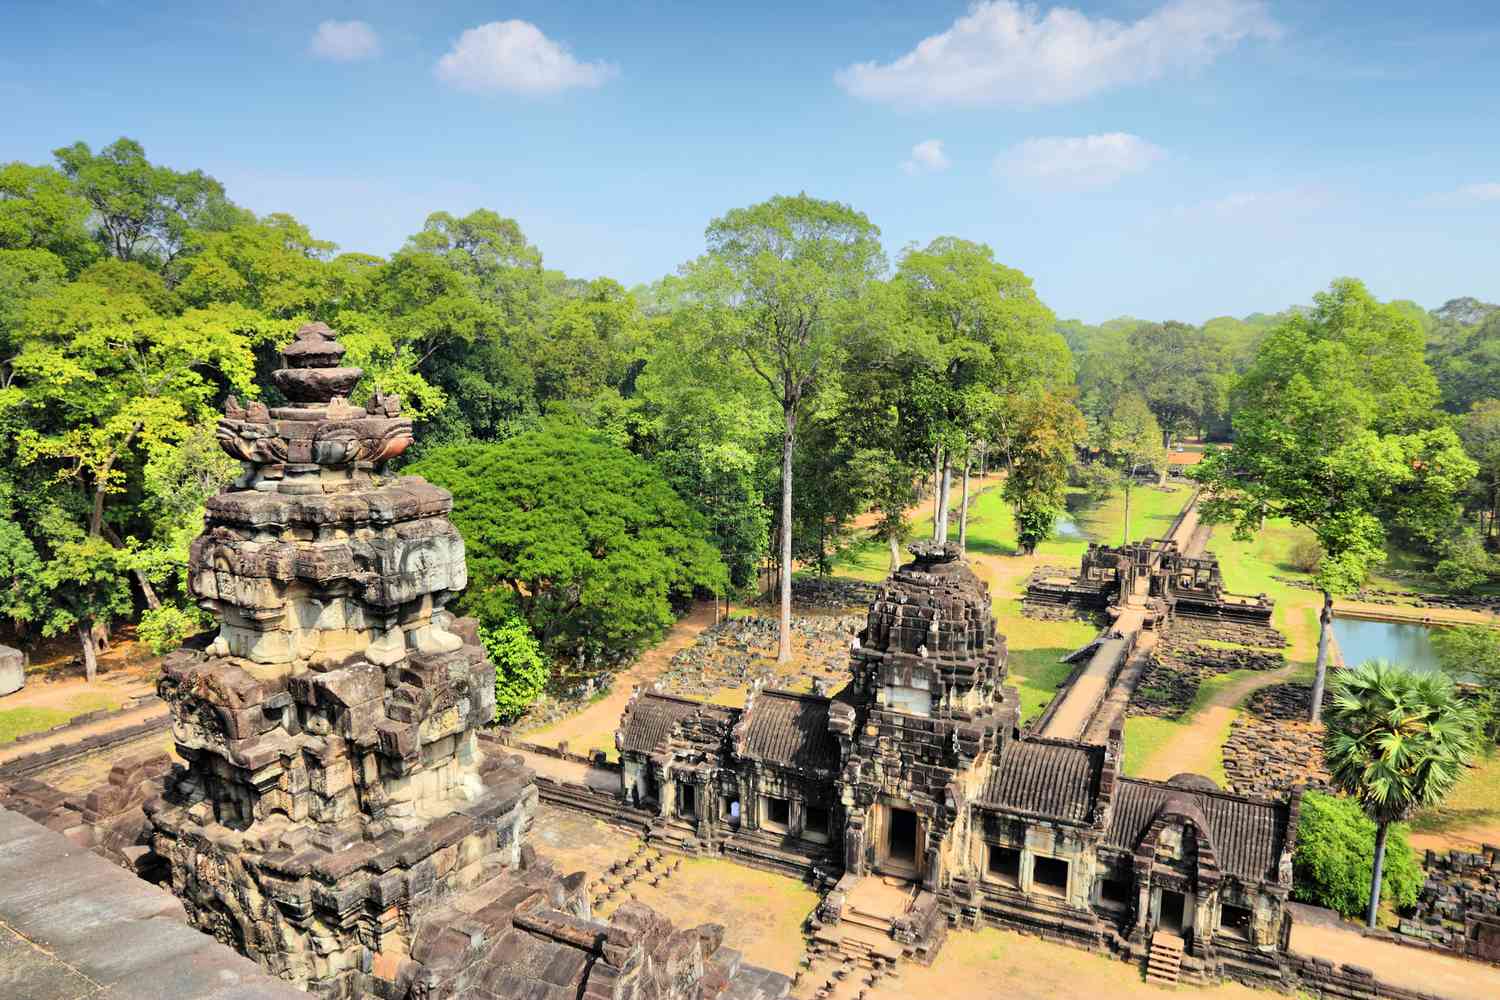
[[[488,210],[434,211],[390,256],[340,252],[129,139],[0,166],[0,618],[24,642],[74,634],[88,663],[126,622],[158,649],[201,628],[186,546],[238,474],[216,412],[280,402],[268,373],[309,319],[364,369],[354,402],[402,399],[405,460],[454,490],[460,525],[540,498],[508,534],[470,537],[465,610],[548,657],[628,657],[694,592],[754,591],[771,562],[826,570],[868,511],[896,559],[921,490],[981,466],[1006,471],[1035,546],[1070,484],[1112,489],[1164,474],[1186,439],[1248,433],[1240,409],[1290,357],[1276,345],[1358,358],[1356,333],[1406,354],[1310,426],[1456,435],[1478,468],[1448,463],[1461,504],[1442,493],[1390,541],[1458,589],[1497,574],[1497,306],[1425,312],[1340,280],[1276,315],[1086,325],[987,246],[938,235],[888,258],[838,202],[778,196],[705,225],[700,256],[627,289],[549,270]],[[1408,408],[1386,426],[1370,400],[1392,393]]]

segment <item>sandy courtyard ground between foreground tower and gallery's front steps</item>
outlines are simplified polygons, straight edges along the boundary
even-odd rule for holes
[[[596,877],[639,846],[639,840],[618,828],[546,804],[537,810],[531,843],[560,871],[586,871]],[[608,916],[620,900],[634,895],[681,928],[722,924],[724,945],[742,952],[753,966],[795,972],[806,949],[802,921],[818,906],[812,889],[796,879],[718,858],[669,856],[668,861],[682,864],[656,886],[650,877],[638,879],[615,901],[602,906],[600,915]]]

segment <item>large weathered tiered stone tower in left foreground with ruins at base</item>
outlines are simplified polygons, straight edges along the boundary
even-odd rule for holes
[[[189,919],[324,997],[774,999],[722,928],[648,907],[592,919],[582,873],[525,844],[537,793],[477,739],[495,669],[448,600],[465,585],[452,498],[384,463],[411,444],[398,399],[321,324],[284,351],[285,406],[231,399],[244,475],[192,546],[213,642],[159,694],[188,762],[146,804]]]

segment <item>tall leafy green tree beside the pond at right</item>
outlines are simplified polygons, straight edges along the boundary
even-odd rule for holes
[[[1250,538],[1286,517],[1317,535],[1323,592],[1310,717],[1323,711],[1334,597],[1384,559],[1386,525],[1434,537],[1476,466],[1437,418],[1422,330],[1353,279],[1287,316],[1234,390],[1234,447],[1192,469],[1203,516]]]

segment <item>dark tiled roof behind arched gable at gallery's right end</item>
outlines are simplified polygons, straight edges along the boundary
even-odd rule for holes
[[[1203,816],[1222,871],[1256,882],[1276,880],[1290,814],[1284,802],[1124,778],[1114,793],[1106,843],[1136,850],[1172,799],[1186,799]]]

